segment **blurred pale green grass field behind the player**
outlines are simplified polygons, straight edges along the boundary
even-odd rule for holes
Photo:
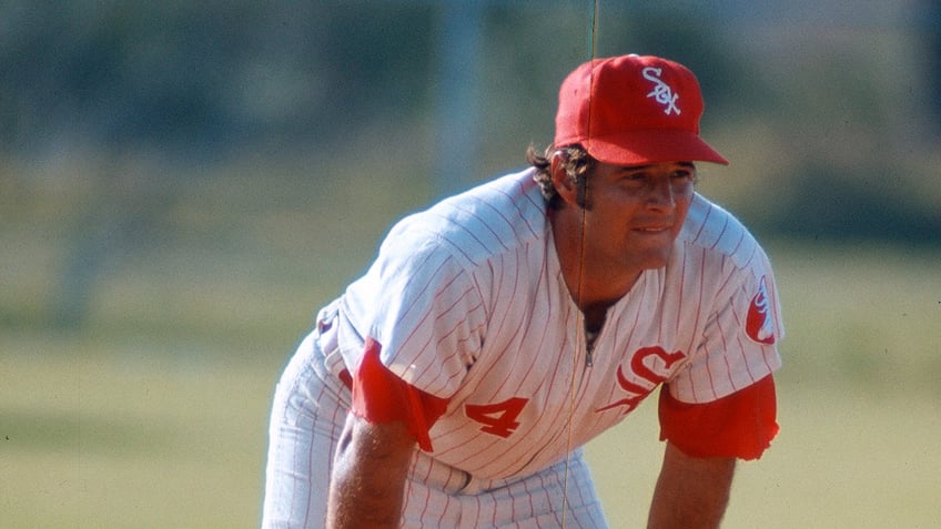
[[[724,527],[938,527],[941,254],[770,246],[788,327],[782,431],[740,465]],[[289,274],[243,257],[120,268],[78,330],[7,317],[2,527],[256,527],[274,380],[331,287],[316,263]],[[4,285],[7,314],[44,295],[20,277]],[[613,527],[646,517],[655,407],[589,445]]]

